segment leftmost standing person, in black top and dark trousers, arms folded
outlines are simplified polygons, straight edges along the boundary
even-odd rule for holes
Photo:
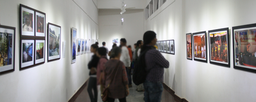
[[[97,91],[97,65],[99,62],[99,57],[97,57],[96,55],[96,51],[98,49],[98,45],[96,44],[92,44],[91,45],[91,52],[93,53],[91,61],[88,63],[88,68],[90,69],[90,78],[89,78],[89,83],[88,83],[88,94],[90,96],[91,102],[97,102],[98,99],[98,91]],[[92,94],[92,89],[93,89],[93,93]]]

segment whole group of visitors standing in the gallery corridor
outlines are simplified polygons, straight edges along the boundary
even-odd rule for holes
[[[92,44],[93,55],[88,63],[90,78],[87,88],[91,102],[98,101],[97,86],[100,87],[101,95],[108,92],[108,102],[114,102],[115,99],[119,99],[119,102],[126,102],[126,97],[130,93],[129,88],[132,87],[132,69],[138,64],[138,58],[144,59],[144,69],[148,74],[145,82],[139,84],[136,90],[145,91],[145,102],[160,102],[164,68],[169,68],[169,62],[156,49],[156,41],[156,33],[148,31],[144,33],[143,41],[138,40],[134,44],[133,50],[130,45],[126,45],[125,38],[120,39],[119,47],[114,43],[110,51],[105,42],[102,42],[102,47],[98,46],[98,42]]]

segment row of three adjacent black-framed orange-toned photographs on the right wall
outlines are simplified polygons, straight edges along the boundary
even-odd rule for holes
[[[208,31],[210,63],[230,67],[228,28]],[[186,34],[187,59],[207,63],[206,31]],[[193,48],[192,48],[193,47]]]

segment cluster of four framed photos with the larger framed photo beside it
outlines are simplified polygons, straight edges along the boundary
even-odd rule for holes
[[[20,70],[45,62],[45,13],[20,4]],[[61,27],[48,23],[47,62],[60,59]]]

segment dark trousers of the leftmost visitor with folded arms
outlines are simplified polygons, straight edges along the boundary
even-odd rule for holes
[[[92,94],[92,89],[93,89],[94,95]],[[87,91],[90,96],[91,102],[97,102],[98,91],[97,91],[97,78],[96,77],[89,78]]]

